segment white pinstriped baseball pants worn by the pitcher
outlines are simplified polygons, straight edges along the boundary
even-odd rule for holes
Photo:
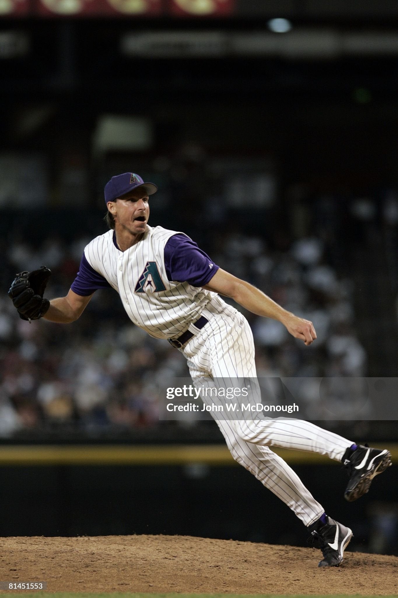
[[[218,296],[201,315],[208,324],[181,349],[193,382],[200,384],[205,377],[255,378],[253,335],[243,315]],[[285,502],[306,526],[319,519],[325,509],[269,447],[313,451],[341,460],[352,441],[304,420],[268,419],[257,414],[242,420],[212,416],[240,465]]]

